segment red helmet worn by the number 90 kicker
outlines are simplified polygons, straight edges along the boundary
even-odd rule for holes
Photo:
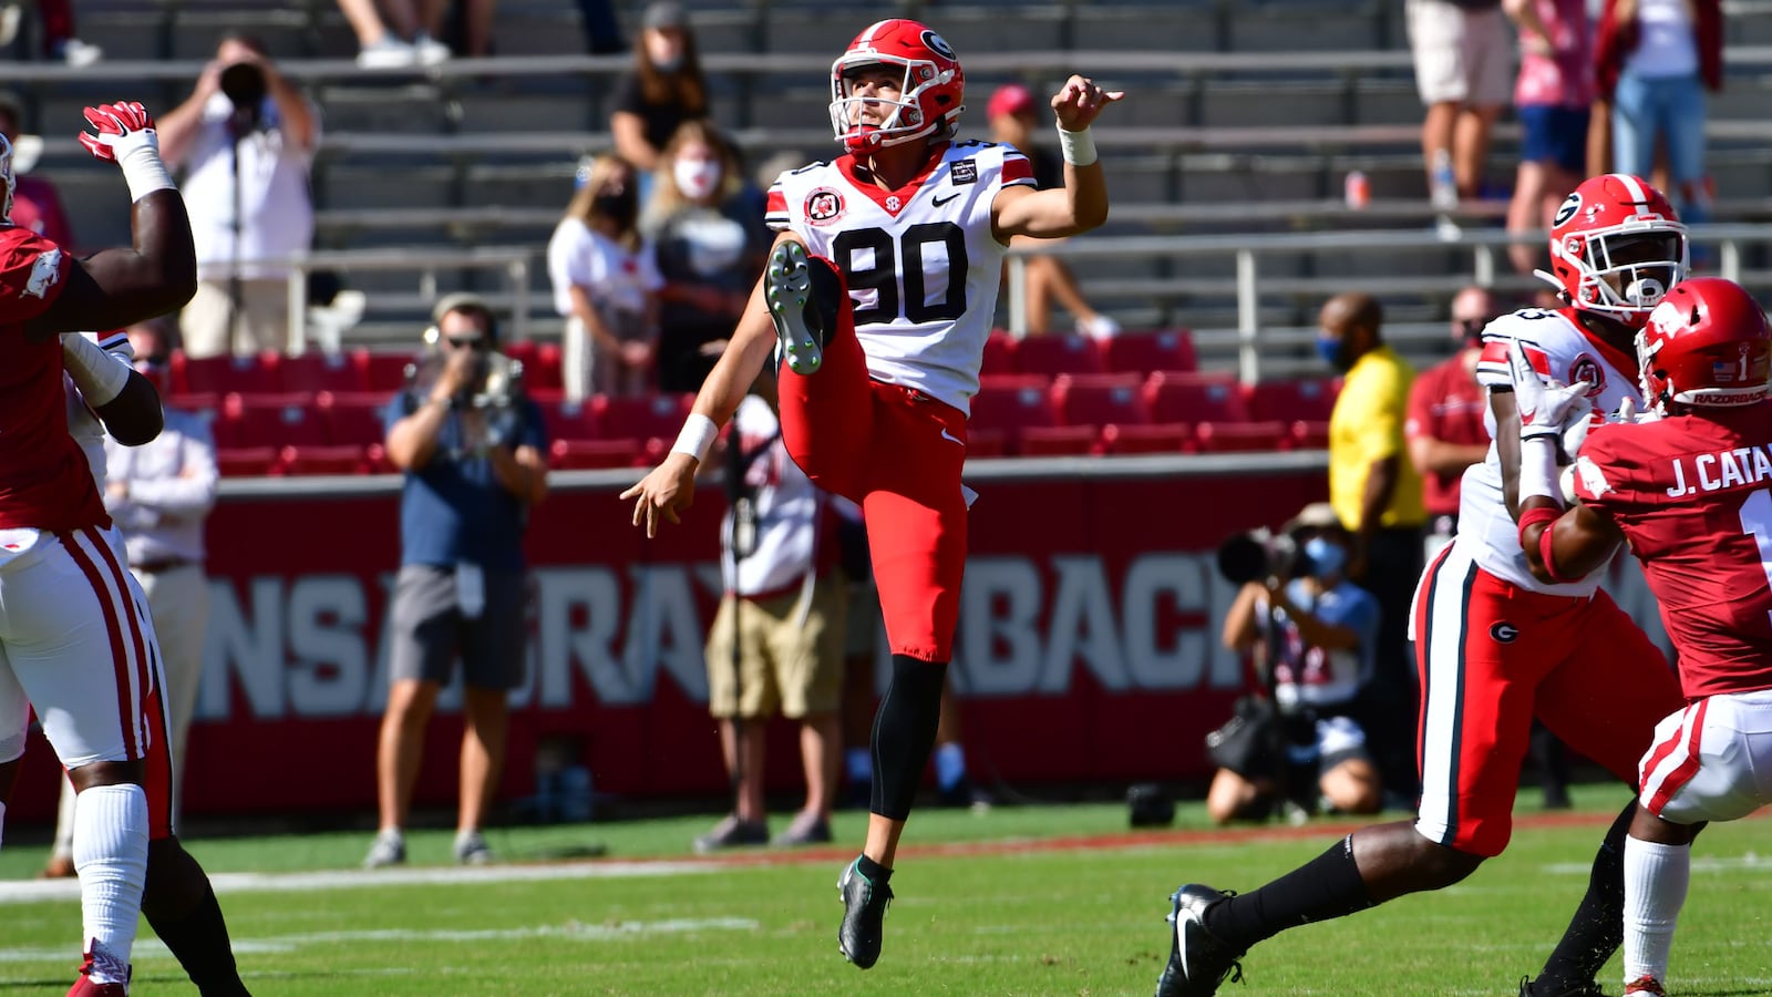
[[[849,75],[874,66],[904,67],[898,99],[854,98]],[[946,138],[960,119],[966,75],[953,48],[927,27],[893,18],[856,35],[831,64],[831,128],[851,153],[868,153],[925,135]],[[867,103],[891,105],[879,124],[861,122]]]

